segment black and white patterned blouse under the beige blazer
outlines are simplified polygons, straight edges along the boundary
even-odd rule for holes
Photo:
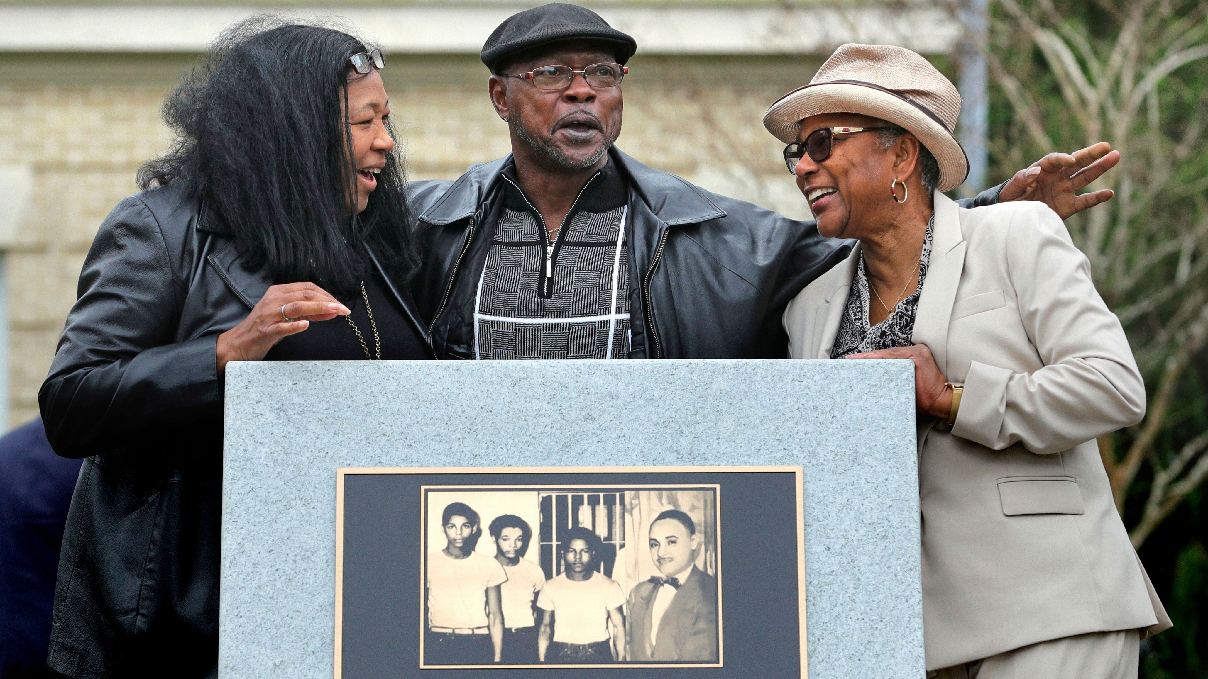
[[[911,341],[911,335],[914,332],[918,297],[923,290],[923,279],[927,278],[928,262],[931,259],[934,226],[935,216],[933,215],[931,221],[927,225],[927,236],[923,238],[923,256],[918,263],[918,286],[908,297],[898,303],[889,318],[872,327],[869,326],[869,303],[875,302],[875,300],[872,290],[869,289],[864,254],[860,254],[860,266],[855,269],[852,292],[847,297],[847,308],[843,311],[843,319],[838,324],[838,335],[835,336],[835,347],[831,349],[832,359],[842,359],[846,355],[861,352],[910,347],[914,343]]]

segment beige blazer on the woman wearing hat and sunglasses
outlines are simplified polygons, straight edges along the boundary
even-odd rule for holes
[[[789,304],[792,358],[830,358],[859,256]],[[936,193],[913,341],[965,385],[956,425],[918,425],[927,668],[1169,627],[1094,441],[1142,419],[1145,387],[1061,217]]]

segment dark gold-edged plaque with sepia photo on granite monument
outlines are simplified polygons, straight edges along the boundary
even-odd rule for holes
[[[336,678],[805,677],[801,488],[778,466],[341,469]]]

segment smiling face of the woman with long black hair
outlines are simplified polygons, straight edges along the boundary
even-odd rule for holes
[[[376,70],[364,76],[353,74],[348,81],[348,129],[356,166],[358,213],[368,205],[370,193],[377,188],[377,174],[394,150],[394,138],[385,127],[389,117],[390,98],[385,94],[382,75]]]

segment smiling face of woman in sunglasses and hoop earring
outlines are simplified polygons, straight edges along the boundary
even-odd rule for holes
[[[882,127],[885,122],[856,114],[824,114],[801,121],[797,141],[824,127]],[[809,202],[818,232],[826,238],[859,238],[861,210],[889,199],[894,152],[876,132],[837,134],[823,162],[803,155],[794,168],[797,188]],[[853,216],[856,217],[853,220]]]

